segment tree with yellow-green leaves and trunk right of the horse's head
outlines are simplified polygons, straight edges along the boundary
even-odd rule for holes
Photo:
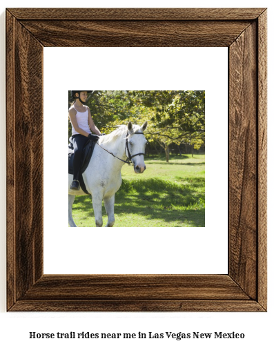
[[[147,133],[164,148],[167,162],[171,143],[191,144],[197,149],[204,144],[204,91],[139,90],[128,93],[135,106],[150,109],[152,117]]]

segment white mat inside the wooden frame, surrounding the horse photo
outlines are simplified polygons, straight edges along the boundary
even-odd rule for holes
[[[44,273],[227,273],[228,48],[44,48],[43,57]],[[90,57],[96,69],[68,74],[79,57]],[[52,83],[58,98],[52,99]],[[72,86],[206,90],[206,227],[68,228],[68,159],[52,157],[47,139],[53,120],[63,130],[55,146],[67,155]],[[53,192],[52,168],[58,184]]]

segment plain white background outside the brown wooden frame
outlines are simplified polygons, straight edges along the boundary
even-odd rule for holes
[[[36,1],[7,1],[1,5],[1,47],[5,43],[5,7],[37,7]],[[219,7],[220,1],[89,1],[77,3],[77,6],[89,7]],[[48,1],[48,7],[73,7],[75,1],[62,2]],[[222,1],[223,7],[268,7],[268,100],[271,102],[273,95],[273,39],[269,33],[273,33],[273,2],[269,1]],[[5,52],[1,50],[1,130],[5,130]],[[268,105],[268,115],[273,115],[273,106]],[[273,118],[268,119],[268,178],[273,178]],[[119,347],[119,349],[271,349],[273,346],[273,182],[268,182],[268,312],[267,313],[6,313],[6,201],[5,201],[5,139],[0,138],[1,157],[1,230],[0,230],[0,344],[3,349],[107,349]],[[239,332],[245,333],[244,340],[29,340],[28,332]]]

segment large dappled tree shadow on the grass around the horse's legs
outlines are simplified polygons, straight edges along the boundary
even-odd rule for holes
[[[185,179],[184,179],[185,180]],[[174,184],[162,179],[124,180],[115,195],[115,215],[141,215],[146,220],[179,222],[204,227],[204,179],[191,178],[192,184]],[[76,211],[90,217],[90,197],[76,197]],[[173,224],[170,226],[174,226]]]

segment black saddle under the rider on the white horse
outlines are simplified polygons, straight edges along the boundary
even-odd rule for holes
[[[73,175],[73,158],[75,156],[75,153],[74,153],[71,137],[69,141],[70,141],[70,144],[68,144],[68,173]],[[90,163],[90,159],[91,159],[93,150],[95,148],[95,144],[96,142],[92,142],[91,140],[88,141],[81,155],[81,171],[79,174],[79,182],[80,182],[81,189],[87,195],[90,195],[90,193],[86,189],[86,185],[82,174],[84,173],[84,171],[86,171],[86,168],[88,168],[88,164]]]

